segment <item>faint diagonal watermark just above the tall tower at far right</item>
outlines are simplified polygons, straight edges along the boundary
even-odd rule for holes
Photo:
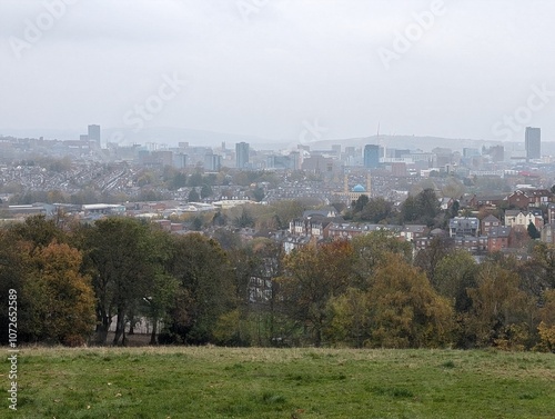
[[[535,113],[541,112],[555,97],[555,90],[549,90],[546,83],[541,87],[533,84],[532,93],[526,99],[526,102],[516,108],[512,114],[504,114],[501,121],[492,126],[492,133],[495,137],[511,140],[513,134],[519,132],[526,127]]]

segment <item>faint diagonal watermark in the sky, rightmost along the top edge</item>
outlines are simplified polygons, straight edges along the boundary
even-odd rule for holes
[[[443,0],[434,0],[428,10],[412,13],[413,21],[402,32],[394,33],[391,48],[377,49],[377,56],[384,68],[389,70],[392,61],[401,60],[434,27],[436,18],[444,16],[446,11]]]

